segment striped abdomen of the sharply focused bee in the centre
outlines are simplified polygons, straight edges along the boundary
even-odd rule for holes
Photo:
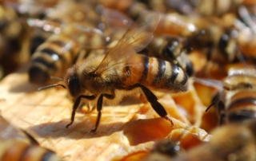
[[[136,55],[136,57],[130,57],[125,70],[125,85],[141,83],[156,90],[174,92],[185,92],[187,90],[187,74],[169,61]]]

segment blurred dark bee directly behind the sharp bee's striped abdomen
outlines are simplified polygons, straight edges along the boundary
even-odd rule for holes
[[[142,50],[142,53],[150,57],[161,58],[165,61],[174,61],[186,71],[188,76],[192,76],[193,65],[187,57],[190,50],[190,46],[186,45],[182,37],[154,36],[150,45],[146,47],[146,51]]]

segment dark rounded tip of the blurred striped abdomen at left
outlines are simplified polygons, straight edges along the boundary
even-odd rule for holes
[[[29,69],[29,79],[31,83],[43,84],[50,79],[49,73],[37,65],[33,65]]]

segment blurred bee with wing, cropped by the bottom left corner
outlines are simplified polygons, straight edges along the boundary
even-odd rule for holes
[[[62,160],[58,155],[38,142],[27,132],[15,128],[0,116],[1,160]]]

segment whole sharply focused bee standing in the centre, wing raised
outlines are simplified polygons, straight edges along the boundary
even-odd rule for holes
[[[68,69],[64,84],[52,84],[44,88],[62,86],[68,88],[74,100],[70,124],[74,122],[75,112],[82,99],[97,104],[98,117],[96,132],[102,115],[102,104],[118,104],[122,96],[127,96],[140,88],[159,116],[169,120],[170,116],[151,90],[186,92],[188,76],[172,62],[137,54],[152,39],[152,33],[158,25],[159,14],[150,13],[139,23],[134,23],[126,31],[118,44],[106,54],[84,60],[80,65]],[[138,24],[138,26],[136,25]],[[105,97],[105,98],[104,98]]]

